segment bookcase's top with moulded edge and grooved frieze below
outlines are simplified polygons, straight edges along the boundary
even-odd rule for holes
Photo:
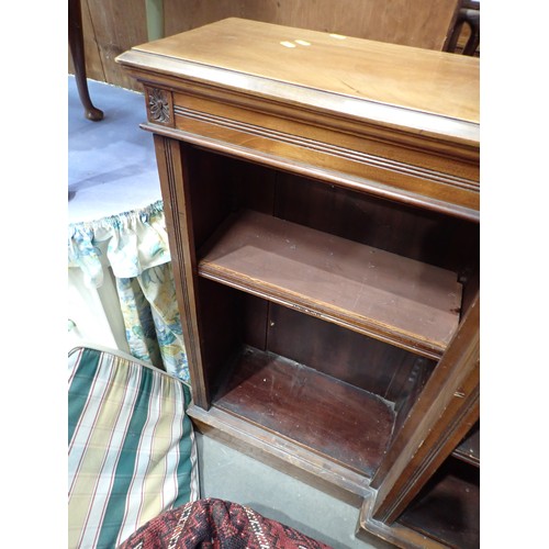
[[[175,127],[153,132],[478,222],[478,59],[310,31],[281,45],[300,32],[228,19],[117,61],[173,93]]]

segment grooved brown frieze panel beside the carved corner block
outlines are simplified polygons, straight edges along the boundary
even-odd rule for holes
[[[193,91],[197,94],[200,93],[198,89]],[[182,131],[210,134],[212,137],[234,135],[235,142],[236,136],[242,134],[246,135],[247,139],[255,137],[254,142],[248,144],[254,148],[259,148],[256,142],[273,142],[279,147],[284,145],[285,148],[280,148],[280,150],[291,152],[292,147],[301,150],[301,156],[304,154],[303,149],[307,149],[315,155],[330,155],[332,161],[338,161],[341,166],[344,163],[349,166],[350,163],[357,163],[362,166],[362,170],[365,168],[371,170],[372,175],[376,173],[377,168],[383,170],[385,179],[391,178],[394,172],[400,177],[413,178],[416,184],[425,180],[456,189],[479,190],[479,167],[474,163],[466,164],[450,155],[422,154],[418,150],[391,146],[388,141],[366,138],[366,135],[352,135],[350,124],[347,128],[348,133],[334,132],[334,128],[329,127],[326,122],[323,125],[321,120],[311,123],[312,121],[306,116],[303,116],[303,121],[298,121],[293,116],[294,120],[290,121],[273,116],[273,113],[251,111],[249,101],[246,110],[239,109],[237,104],[231,105],[226,99],[221,103],[177,93],[175,101],[177,127]],[[217,133],[214,133],[212,126],[216,127]],[[355,131],[355,133],[359,132]],[[267,150],[267,145],[265,149]],[[274,154],[276,150],[271,148],[271,153]],[[314,158],[314,155],[311,158]],[[337,165],[334,164],[334,169],[336,168]],[[346,171],[343,168],[340,170]],[[347,171],[352,172],[351,168],[347,168]],[[362,175],[366,178],[369,171],[357,171],[355,175]]]

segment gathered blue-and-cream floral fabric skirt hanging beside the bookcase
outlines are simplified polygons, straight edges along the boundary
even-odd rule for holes
[[[189,382],[163,202],[69,225],[68,265],[90,288],[103,284],[100,243],[107,243],[130,352]]]

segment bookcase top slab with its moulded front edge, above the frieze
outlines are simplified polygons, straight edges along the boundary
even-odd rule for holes
[[[116,60],[138,79],[223,98],[225,104],[240,96],[251,107],[262,101],[268,110],[300,107],[303,116],[309,112],[316,119],[332,113],[411,145],[406,134],[434,146],[452,144],[469,158],[477,150],[478,159],[478,59],[356,38],[336,41],[326,33],[310,36],[317,47],[305,48],[304,57],[288,57],[288,48],[280,45],[288,33],[295,30],[229,19],[135,46]],[[302,70],[304,65],[310,69]]]

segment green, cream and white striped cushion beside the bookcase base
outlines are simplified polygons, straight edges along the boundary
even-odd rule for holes
[[[199,497],[190,391],[97,349],[75,349],[68,363],[69,547],[112,549]]]

